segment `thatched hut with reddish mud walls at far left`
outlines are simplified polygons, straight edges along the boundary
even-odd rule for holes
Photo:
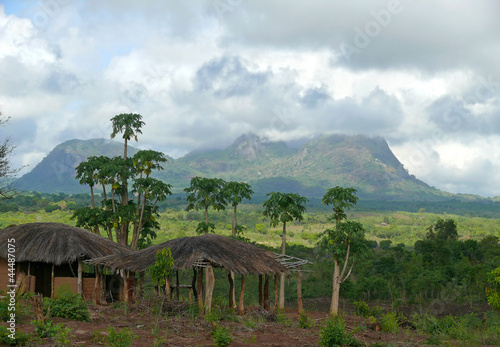
[[[99,278],[99,272],[84,273],[82,262],[131,252],[98,234],[62,223],[7,227],[0,230],[0,245],[0,290],[6,291],[12,284],[8,276],[11,258],[19,290],[53,297],[57,288],[65,285],[84,298],[94,300],[103,297],[106,278]],[[118,277],[107,280],[108,286],[110,281],[120,281]]]

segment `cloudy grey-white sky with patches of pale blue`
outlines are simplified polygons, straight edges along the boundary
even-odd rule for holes
[[[500,0],[0,0],[0,137],[36,166],[140,113],[174,158],[244,133],[382,136],[452,193],[500,195]]]

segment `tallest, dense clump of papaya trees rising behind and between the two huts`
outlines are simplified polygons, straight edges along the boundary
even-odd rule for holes
[[[92,206],[76,209],[72,216],[77,226],[97,232],[96,226],[102,226],[110,240],[133,250],[144,247],[156,237],[155,230],[159,229],[155,219],[159,215],[157,204],[172,194],[171,185],[151,177],[153,171],[162,170],[162,165],[167,162],[163,153],[145,150],[138,151],[131,158],[128,156],[128,141],[131,138],[137,140],[144,125],[141,119],[142,116],[137,114],[121,114],[111,119],[111,136],[123,132],[123,157],[89,157],[78,165],[77,178],[80,178],[80,184],[90,187]],[[93,198],[97,184],[103,191],[100,208],[95,206]],[[129,193],[136,195],[135,201],[129,199]]]

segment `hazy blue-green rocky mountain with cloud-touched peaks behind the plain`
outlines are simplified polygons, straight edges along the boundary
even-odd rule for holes
[[[17,181],[19,189],[40,192],[86,192],[74,168],[90,155],[122,155],[119,142],[71,140],[58,145],[32,172]],[[133,155],[137,151],[129,147]],[[408,174],[380,137],[324,135],[289,148],[254,134],[238,137],[225,149],[197,150],[172,159],[156,177],[182,192],[191,177],[246,181],[257,196],[271,191],[321,197],[327,188],[353,186],[360,198],[444,200],[451,196]]]

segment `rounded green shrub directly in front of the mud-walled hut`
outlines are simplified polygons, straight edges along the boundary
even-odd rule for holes
[[[61,317],[87,322],[90,320],[87,303],[78,293],[63,290],[55,298],[44,298],[44,310],[50,306],[51,317]]]

